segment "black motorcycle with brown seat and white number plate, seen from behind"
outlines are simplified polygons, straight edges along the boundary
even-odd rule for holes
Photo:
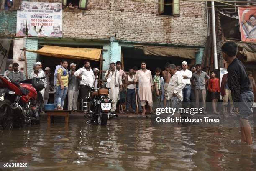
[[[82,77],[82,79],[84,78]],[[108,78],[105,84],[110,81],[111,79]],[[89,93],[89,97],[85,98],[87,102],[82,100],[82,111],[86,111],[89,114],[91,123],[98,125],[107,125],[110,117],[118,117],[117,114],[111,114],[111,106],[115,103],[115,100],[108,98],[110,88],[103,87],[105,84],[100,88],[90,87],[92,91]]]

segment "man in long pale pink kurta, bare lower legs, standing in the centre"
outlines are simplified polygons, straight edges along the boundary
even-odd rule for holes
[[[138,87],[138,96],[141,100],[141,106],[143,108],[142,114],[146,113],[145,105],[148,102],[150,107],[150,113],[153,114],[153,99],[152,99],[152,91],[153,91],[153,79],[151,71],[146,69],[146,63],[141,63],[141,69],[138,70],[135,74],[134,83],[139,82]]]

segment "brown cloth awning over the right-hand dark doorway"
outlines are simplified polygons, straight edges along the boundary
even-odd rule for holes
[[[145,55],[178,56],[181,58],[195,59],[195,48],[161,47],[161,46],[134,46],[142,49]]]

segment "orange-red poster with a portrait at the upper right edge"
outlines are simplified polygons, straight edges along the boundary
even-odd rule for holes
[[[256,42],[256,7],[238,7],[242,41]]]

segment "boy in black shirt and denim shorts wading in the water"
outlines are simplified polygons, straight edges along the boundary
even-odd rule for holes
[[[245,66],[236,58],[237,44],[227,42],[222,47],[223,59],[228,62],[228,87],[231,90],[234,107],[238,111],[241,128],[241,142],[252,145],[251,126],[248,117],[252,115],[251,107],[254,94]]]

